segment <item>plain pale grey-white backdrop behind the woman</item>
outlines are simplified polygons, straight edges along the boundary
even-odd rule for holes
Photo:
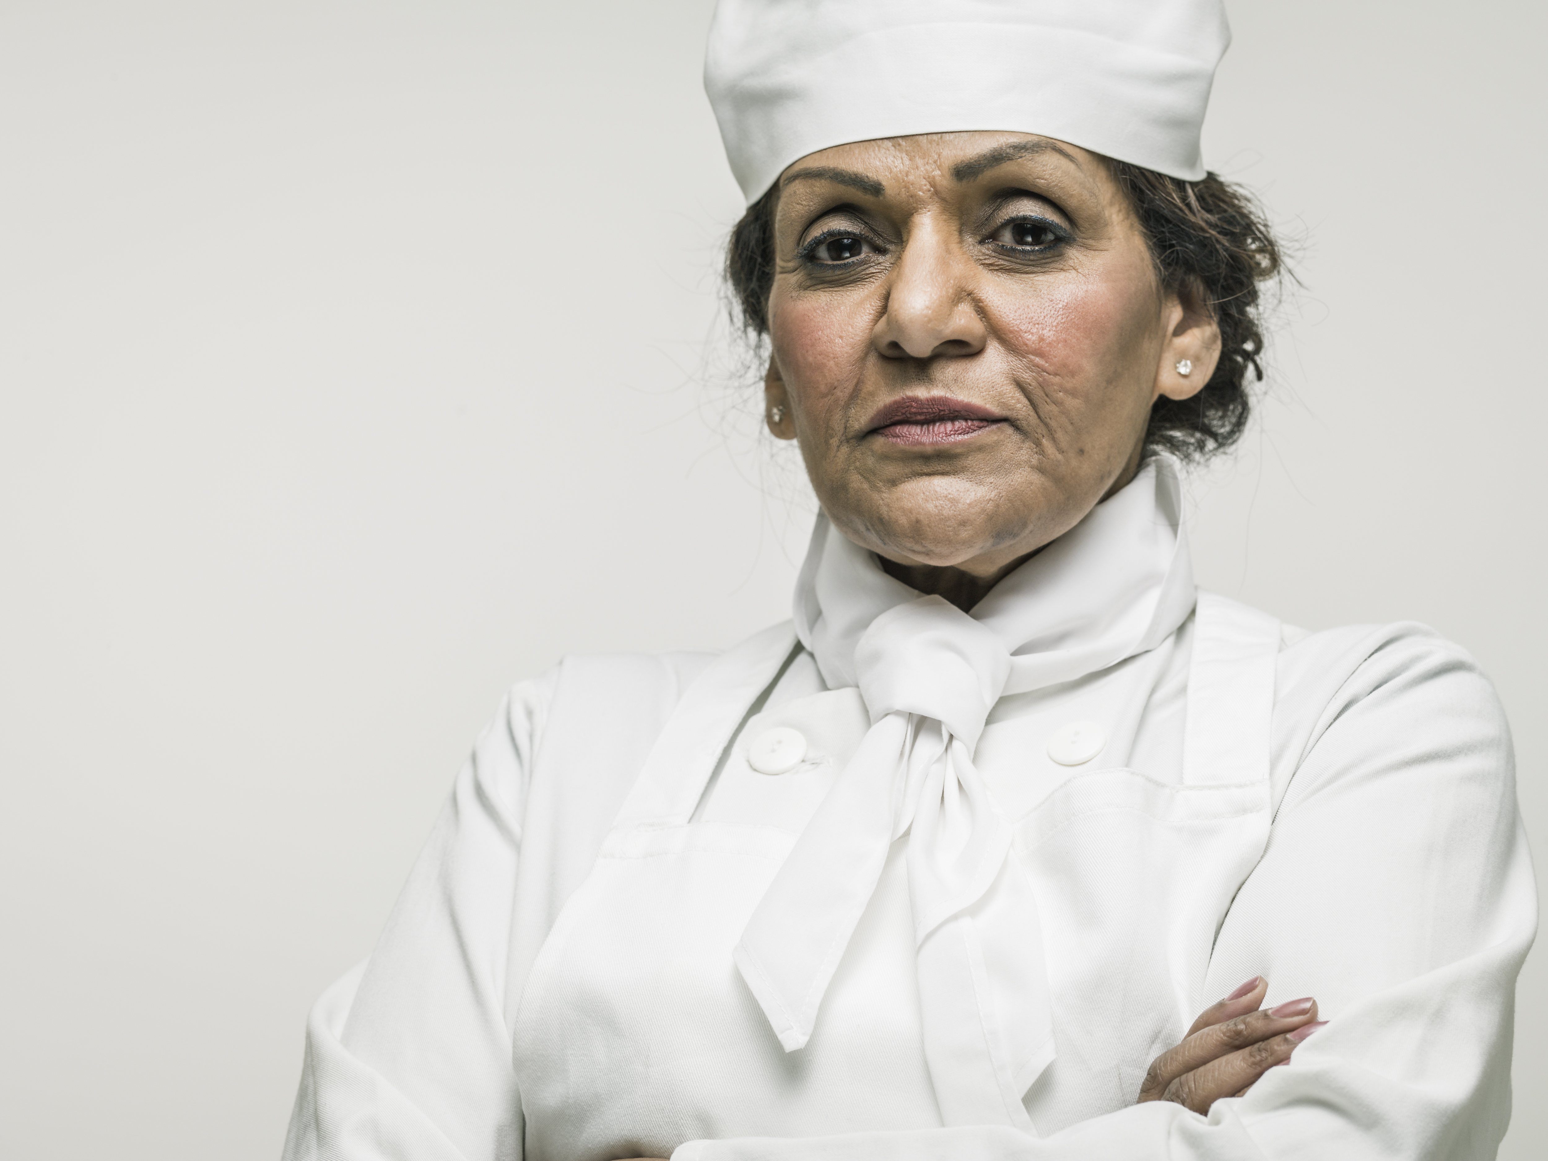
[[[502,690],[785,615],[709,6],[0,5],[5,1156],[274,1158]],[[1206,156],[1305,286],[1198,571],[1474,650],[1542,844],[1543,8],[1231,11]]]

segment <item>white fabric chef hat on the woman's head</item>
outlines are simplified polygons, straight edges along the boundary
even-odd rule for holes
[[[1204,176],[1221,0],[720,0],[704,90],[757,201],[793,161],[913,133],[1039,133]]]

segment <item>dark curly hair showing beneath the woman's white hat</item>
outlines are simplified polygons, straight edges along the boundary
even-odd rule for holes
[[[1209,382],[1189,399],[1156,399],[1146,430],[1147,450],[1203,460],[1246,430],[1252,410],[1248,376],[1263,379],[1259,283],[1280,274],[1280,246],[1257,198],[1217,173],[1183,181],[1125,161],[1107,164],[1146,234],[1156,279],[1167,291],[1198,294],[1220,325],[1220,362]],[[754,336],[768,334],[777,190],[748,207],[726,248],[732,302],[741,327]]]

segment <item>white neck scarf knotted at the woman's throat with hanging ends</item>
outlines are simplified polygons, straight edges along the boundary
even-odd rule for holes
[[[1037,998],[1040,935],[1022,935],[1025,913],[1011,924],[1015,932],[994,930],[1006,927],[995,916],[1014,910],[977,909],[978,935],[964,938],[1014,944],[1022,958],[1020,968],[1005,972],[1009,981],[1002,980],[1002,991],[1037,991],[1031,1000],[1002,997],[998,1022],[1008,1008],[1043,1009],[1040,1031],[1002,1029],[1005,1036],[991,1036],[986,1048],[981,1034],[977,1046],[961,1042],[961,1025],[978,1023],[960,1019],[958,994],[969,980],[963,975],[969,961],[980,964],[971,978],[983,975],[977,943],[968,952],[926,954],[957,946],[930,937],[1006,878],[1011,824],[974,769],[974,749],[1000,697],[1094,673],[1153,649],[1192,608],[1181,486],[1167,457],[1146,463],[1132,483],[1000,580],[971,615],[887,576],[872,553],[817,517],[796,585],[796,630],[830,687],[859,686],[872,728],[735,950],[743,978],[786,1051],[810,1039],[887,848],[912,827],[907,868],[920,1000],[943,1116],[947,1124],[1025,1121],[1020,1094],[1053,1053],[1046,1002]],[[1022,907],[1036,906],[1029,895],[1020,898]],[[1017,983],[1011,977],[1025,975],[1029,957],[1036,957],[1039,981]],[[947,958],[961,960],[961,969],[943,966]],[[1025,1042],[1020,1048],[1017,1036]],[[986,1113],[981,1094],[950,1091],[971,1084],[964,1077],[975,1073],[964,1060],[974,1053],[983,1057],[977,1074],[992,1077],[985,1084],[997,1090],[991,1104],[1003,1115]]]

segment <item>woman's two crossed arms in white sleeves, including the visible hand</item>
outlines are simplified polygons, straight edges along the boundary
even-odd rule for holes
[[[1297,740],[1271,847],[1212,954],[1217,980],[1260,972],[1316,992],[1334,1019],[1310,1048],[1316,1006],[1265,1011],[1254,978],[1155,1059],[1136,1105],[1050,1136],[697,1139],[680,1161],[1489,1155],[1509,1115],[1509,1002],[1537,910],[1509,734],[1471,663],[1418,632],[1390,636],[1350,667],[1317,737]],[[522,1155],[503,988],[523,762],[525,746],[481,743],[364,978],[314,1011],[288,1161]]]

